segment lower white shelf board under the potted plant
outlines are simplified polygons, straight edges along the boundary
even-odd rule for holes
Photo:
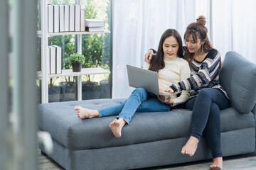
[[[82,69],[81,72],[73,72],[72,69],[63,69],[62,74],[48,74],[48,78],[53,77],[68,77],[68,76],[82,76],[82,75],[90,75],[90,74],[110,74],[110,71],[107,69],[102,69],[100,67],[96,68],[85,68]],[[42,78],[41,72],[37,72],[38,79]]]

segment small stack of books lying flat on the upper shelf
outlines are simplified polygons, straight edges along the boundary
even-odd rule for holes
[[[102,19],[85,19],[85,30],[89,32],[104,31],[105,21]]]

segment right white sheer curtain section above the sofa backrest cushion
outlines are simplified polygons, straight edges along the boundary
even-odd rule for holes
[[[212,42],[222,58],[233,50],[256,63],[256,1],[214,0],[212,8]]]

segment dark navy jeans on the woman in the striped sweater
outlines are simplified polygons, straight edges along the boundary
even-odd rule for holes
[[[230,106],[229,100],[218,89],[206,88],[185,104],[192,112],[191,136],[201,139],[203,134],[213,158],[222,157],[220,144],[220,110]]]

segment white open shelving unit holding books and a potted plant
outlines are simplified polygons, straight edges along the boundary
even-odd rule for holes
[[[81,0],[76,0],[76,4],[81,5]],[[73,72],[72,69],[63,69],[62,74],[48,74],[48,38],[58,35],[77,35],[77,52],[82,54],[82,35],[85,34],[102,34],[110,33],[110,30],[97,31],[97,32],[60,32],[60,33],[48,33],[48,0],[41,0],[41,30],[37,31],[37,37],[41,38],[41,71],[37,72],[37,79],[41,79],[41,101],[42,103],[48,103],[48,79],[53,77],[68,77],[75,76],[77,78],[77,92],[78,101],[82,100],[82,75],[90,74],[110,74],[110,71],[102,68],[86,68],[81,72]]]

